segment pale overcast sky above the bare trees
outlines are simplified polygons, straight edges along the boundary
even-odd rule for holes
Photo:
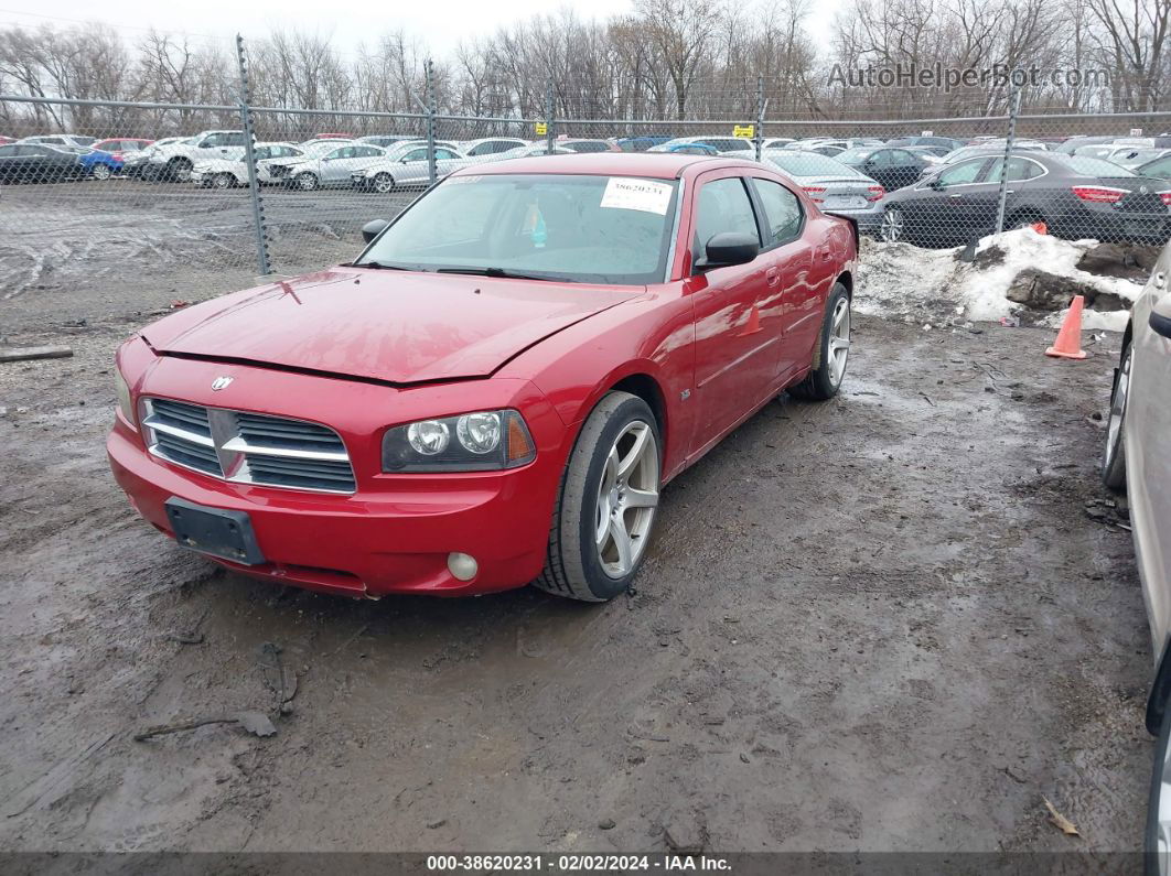
[[[35,26],[54,23],[68,26],[94,21],[109,25],[128,39],[155,27],[163,32],[183,32],[200,37],[231,40],[239,30],[245,36],[263,36],[274,27],[316,30],[333,36],[343,50],[382,30],[402,28],[418,37],[443,57],[460,40],[477,34],[492,33],[500,25],[528,19],[542,12],[554,12],[563,6],[577,11],[583,19],[607,18],[628,12],[630,0],[423,0],[409,4],[378,6],[358,0],[280,0],[246,4],[239,0],[121,0],[103,4],[101,14],[94,14],[91,0],[55,0],[34,12],[20,12],[26,0],[0,0],[0,22]],[[807,22],[810,35],[824,44],[834,11],[842,0],[821,0],[817,11]],[[43,13],[43,14],[42,14]]]

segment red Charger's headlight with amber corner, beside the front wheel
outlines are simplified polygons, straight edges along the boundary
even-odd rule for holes
[[[382,470],[492,471],[532,462],[533,436],[515,411],[479,411],[388,429]]]

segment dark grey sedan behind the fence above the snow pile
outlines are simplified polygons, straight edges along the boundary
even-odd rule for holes
[[[883,201],[886,242],[956,246],[997,226],[1004,156],[980,156]],[[1019,151],[1008,157],[1005,228],[1045,222],[1066,240],[1163,243],[1171,235],[1171,185],[1088,156]]]

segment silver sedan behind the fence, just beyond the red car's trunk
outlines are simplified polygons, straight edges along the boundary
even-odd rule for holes
[[[761,160],[778,168],[809,195],[823,212],[849,216],[863,232],[875,232],[882,221],[885,189],[856,167],[819,152],[773,149]]]

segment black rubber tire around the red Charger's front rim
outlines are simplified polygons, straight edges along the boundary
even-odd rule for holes
[[[646,558],[646,544],[653,533],[657,509],[650,509],[645,532],[636,547],[637,556],[630,571],[621,577],[611,575],[603,567],[594,533],[601,523],[598,494],[611,448],[616,447],[619,437],[625,439],[629,429],[641,426],[650,430],[655,441],[652,480],[655,492],[658,492],[663,443],[655,414],[637,395],[611,392],[590,413],[569,454],[553,509],[545,570],[533,582],[535,586],[586,602],[604,602],[630,587]],[[641,513],[646,509],[630,510]]]

